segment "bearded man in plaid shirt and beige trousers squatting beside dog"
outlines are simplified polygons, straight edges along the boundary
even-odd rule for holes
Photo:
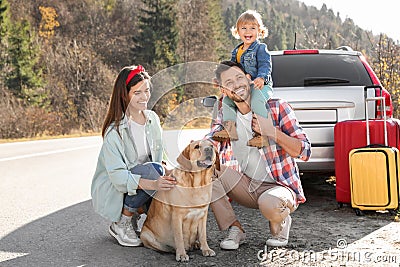
[[[215,71],[221,92],[236,105],[238,140],[231,141],[240,172],[225,167],[213,184],[211,208],[220,230],[228,231],[222,249],[237,249],[245,231],[235,216],[226,195],[240,205],[259,209],[269,221],[272,235],[268,246],[286,246],[292,219],[290,213],[306,199],[295,158],[307,161],[311,144],[298,124],[293,109],[282,99],[267,102],[268,116],[250,110],[251,84],[240,64],[222,62]],[[211,136],[220,129],[216,120]],[[247,146],[252,130],[267,137],[269,146]]]

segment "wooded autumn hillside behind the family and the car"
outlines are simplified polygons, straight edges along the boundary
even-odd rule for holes
[[[185,62],[229,59],[238,43],[230,28],[246,9],[262,14],[270,50],[293,48],[296,33],[298,49],[347,45],[361,51],[392,94],[394,116],[400,117],[399,44],[374,36],[350,18],[343,20],[325,5],[317,9],[297,0],[0,0],[0,139],[99,132],[123,66],[140,63],[156,75]],[[154,110],[164,126],[193,116],[201,123],[207,112],[193,114],[192,107],[199,106],[200,97],[216,93],[204,82],[178,84]],[[176,112],[178,106],[184,112]]]

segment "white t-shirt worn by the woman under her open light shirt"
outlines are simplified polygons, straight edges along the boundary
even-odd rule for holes
[[[145,126],[146,124],[141,125],[133,120],[129,120],[129,130],[136,146],[139,164],[150,161],[151,152],[146,138]]]

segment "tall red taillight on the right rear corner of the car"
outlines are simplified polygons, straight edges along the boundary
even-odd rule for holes
[[[372,70],[371,66],[368,64],[367,60],[365,59],[364,56],[360,56],[361,62],[363,63],[365,69],[367,70],[369,77],[372,80],[372,83],[374,85],[381,85],[381,82],[378,79],[378,76],[376,76],[375,72]],[[380,89],[375,89],[375,96],[383,96],[385,97],[385,109],[386,109],[386,117],[391,118],[393,115],[393,104],[392,104],[392,97],[390,96],[389,92],[386,89],[382,89],[382,95],[380,95]],[[382,110],[381,110],[381,101],[376,101],[376,107],[375,107],[376,113],[375,117],[377,119],[382,119]]]

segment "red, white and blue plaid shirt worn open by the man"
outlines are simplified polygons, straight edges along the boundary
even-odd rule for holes
[[[298,158],[307,161],[311,156],[311,143],[303,128],[299,125],[292,107],[282,99],[270,99],[268,100],[268,106],[274,125],[287,135],[301,140],[301,152]],[[212,125],[211,133],[208,135],[209,137],[211,137],[214,132],[222,129],[221,118],[222,112],[220,109],[218,117]],[[304,203],[306,198],[304,196],[295,159],[274,140],[269,139],[269,143],[269,146],[259,150],[261,157],[266,162],[267,173],[270,174],[277,183],[292,189],[296,193],[298,203]],[[240,170],[240,166],[237,166],[238,162],[233,157],[230,143],[222,142],[216,145],[218,145],[220,151],[221,163],[228,163],[228,166]]]

